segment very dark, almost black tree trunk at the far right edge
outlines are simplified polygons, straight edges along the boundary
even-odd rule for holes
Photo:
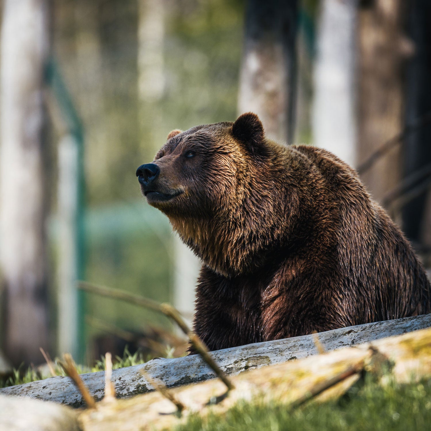
[[[415,55],[407,66],[406,123],[431,112],[431,2],[409,2],[408,34]],[[408,176],[431,163],[431,123],[416,128],[406,138],[404,175]],[[431,247],[431,192],[425,190],[403,210],[403,228],[419,249]],[[431,262],[428,261],[428,265]]]

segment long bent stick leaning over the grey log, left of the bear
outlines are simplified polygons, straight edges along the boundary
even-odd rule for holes
[[[215,375],[226,385],[228,390],[234,389],[234,384],[231,382],[225,372],[223,372],[223,370],[219,367],[219,365],[217,365],[212,356],[209,355],[208,347],[206,347],[203,341],[189,329],[186,322],[184,322],[184,319],[181,318],[178,310],[172,305],[166,303],[159,304],[157,301],[143,298],[139,295],[130,294],[122,290],[111,289],[109,287],[97,286],[95,284],[87,283],[86,281],[80,281],[78,287],[87,292],[126,301],[145,308],[150,308],[171,318],[181,328],[181,331],[187,335],[194,349],[215,372]]]

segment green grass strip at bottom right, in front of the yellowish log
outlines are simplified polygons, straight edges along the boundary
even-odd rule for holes
[[[288,390],[288,389],[286,389]],[[287,406],[240,403],[224,415],[194,415],[176,431],[412,431],[431,430],[431,379],[415,384],[369,382],[338,401]]]

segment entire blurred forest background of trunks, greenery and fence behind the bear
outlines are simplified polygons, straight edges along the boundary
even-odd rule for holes
[[[141,197],[174,128],[255,111],[356,167],[431,266],[428,0],[0,0],[1,341],[15,366],[178,347],[199,262]],[[169,338],[171,337],[171,338]],[[167,340],[167,341],[166,341]],[[172,353],[172,351],[171,351]]]

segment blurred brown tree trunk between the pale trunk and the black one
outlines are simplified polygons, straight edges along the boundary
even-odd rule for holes
[[[403,37],[401,0],[364,1],[359,9],[358,162],[403,129]],[[393,147],[361,175],[381,201],[400,180],[400,147]]]

